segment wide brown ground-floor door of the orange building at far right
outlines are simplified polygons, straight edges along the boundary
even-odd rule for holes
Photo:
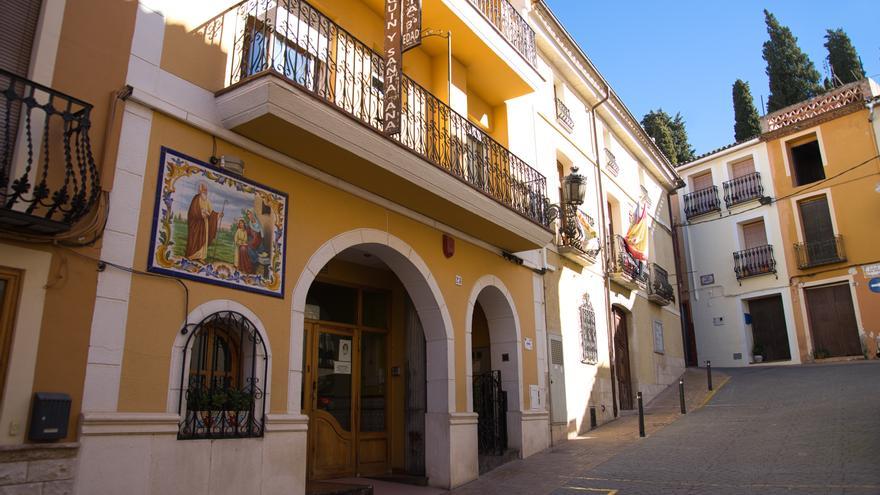
[[[858,356],[859,328],[849,284],[806,289],[807,313],[816,356]]]

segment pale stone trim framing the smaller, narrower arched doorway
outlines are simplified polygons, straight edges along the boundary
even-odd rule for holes
[[[516,304],[507,286],[494,275],[480,277],[471,289],[465,314],[465,377],[467,379],[468,411],[473,412],[473,349],[474,307],[479,303],[489,324],[492,369],[501,370],[501,388],[507,392],[507,435],[509,446],[522,447],[522,333]],[[507,354],[507,360],[503,355]]]

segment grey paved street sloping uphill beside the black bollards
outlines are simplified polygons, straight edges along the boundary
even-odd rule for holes
[[[645,439],[624,417],[452,493],[880,494],[880,362],[724,372],[677,421],[658,398]]]

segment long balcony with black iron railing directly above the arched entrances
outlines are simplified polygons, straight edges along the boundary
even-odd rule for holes
[[[545,177],[409,77],[383,135],[382,57],[310,4],[246,2],[202,30],[235,33],[227,127],[506,250],[552,239]]]

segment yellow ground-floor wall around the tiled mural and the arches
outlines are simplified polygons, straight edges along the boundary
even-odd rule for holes
[[[153,216],[160,146],[168,146],[194,157],[211,154],[211,138],[178,121],[155,115],[149,144],[146,180],[137,238],[135,267],[146,268],[150,222]],[[247,164],[246,176],[289,194],[289,218],[284,299],[256,295],[198,282],[190,288],[190,309],[213,299],[234,299],[262,320],[272,348],[272,399],[270,412],[283,412],[287,403],[287,366],[290,339],[290,291],[308,259],[322,244],[337,234],[357,229],[386,230],[408,243],[426,262],[443,293],[455,328],[456,409],[467,404],[465,363],[465,315],[471,284],[485,274],[494,274],[510,290],[522,336],[535,338],[532,272],[512,265],[498,255],[462,240],[447,259],[442,253],[442,232],[381,206],[302,176],[246,150],[218,141],[218,154],[235,154]],[[455,285],[455,275],[464,283]],[[171,347],[185,312],[183,297],[175,283],[135,276],[129,309],[119,407],[122,411],[165,410]],[[296,337],[299,338],[299,337]],[[537,384],[534,351],[523,352],[523,394]]]

